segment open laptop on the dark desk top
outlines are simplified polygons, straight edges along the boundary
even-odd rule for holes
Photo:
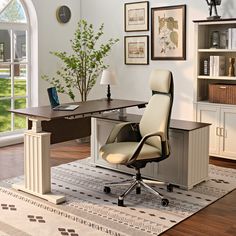
[[[47,89],[48,91],[48,97],[51,104],[51,107],[55,111],[74,111],[76,108],[79,107],[79,105],[67,105],[62,104],[60,105],[59,98],[57,95],[57,90],[55,87],[51,87]]]

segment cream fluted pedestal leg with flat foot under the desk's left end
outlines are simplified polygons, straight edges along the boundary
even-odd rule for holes
[[[64,196],[51,193],[50,133],[30,130],[24,135],[24,185],[12,187],[54,204],[65,201]]]

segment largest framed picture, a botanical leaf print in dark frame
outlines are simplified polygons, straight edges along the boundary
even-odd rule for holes
[[[151,9],[151,59],[186,60],[186,5]]]

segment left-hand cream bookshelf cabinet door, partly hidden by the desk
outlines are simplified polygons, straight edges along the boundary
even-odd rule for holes
[[[217,106],[198,105],[197,121],[203,123],[210,123],[210,154],[219,155],[220,153],[220,136],[217,135],[219,131],[220,108]]]

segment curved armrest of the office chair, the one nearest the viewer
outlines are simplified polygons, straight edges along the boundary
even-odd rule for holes
[[[155,132],[155,133],[151,133],[151,134],[147,134],[145,135],[141,141],[139,142],[137,148],[135,149],[134,151],[134,154],[131,156],[131,158],[129,159],[128,161],[128,165],[132,164],[133,162],[136,161],[136,159],[138,158],[139,156],[139,153],[141,152],[142,150],[142,147],[145,143],[145,141],[150,138],[150,137],[155,137],[155,136],[158,136],[161,138],[161,152],[162,152],[162,156],[163,157],[166,157],[169,155],[169,149],[168,149],[168,141],[164,135],[163,132]]]

